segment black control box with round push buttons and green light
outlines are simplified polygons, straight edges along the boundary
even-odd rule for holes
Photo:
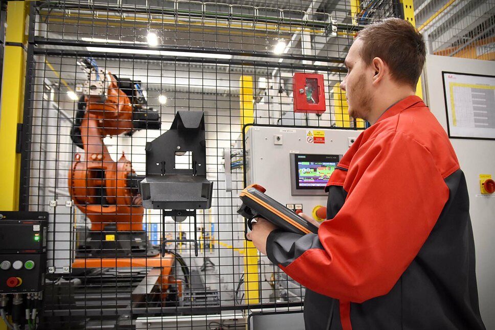
[[[0,211],[0,293],[41,291],[47,224],[46,212]]]

